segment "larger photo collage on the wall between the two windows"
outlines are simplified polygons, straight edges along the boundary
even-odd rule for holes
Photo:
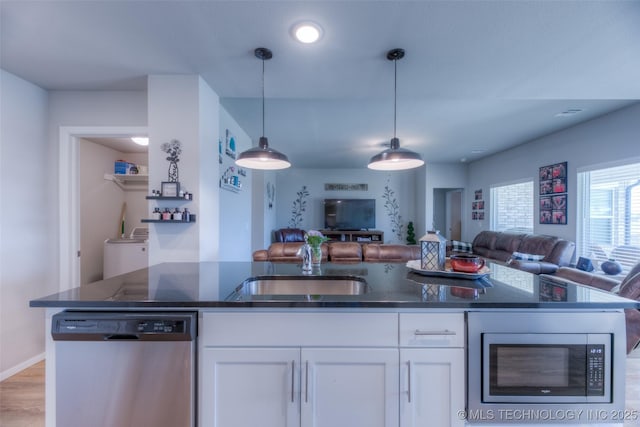
[[[567,224],[567,162],[540,168],[540,224]]]

